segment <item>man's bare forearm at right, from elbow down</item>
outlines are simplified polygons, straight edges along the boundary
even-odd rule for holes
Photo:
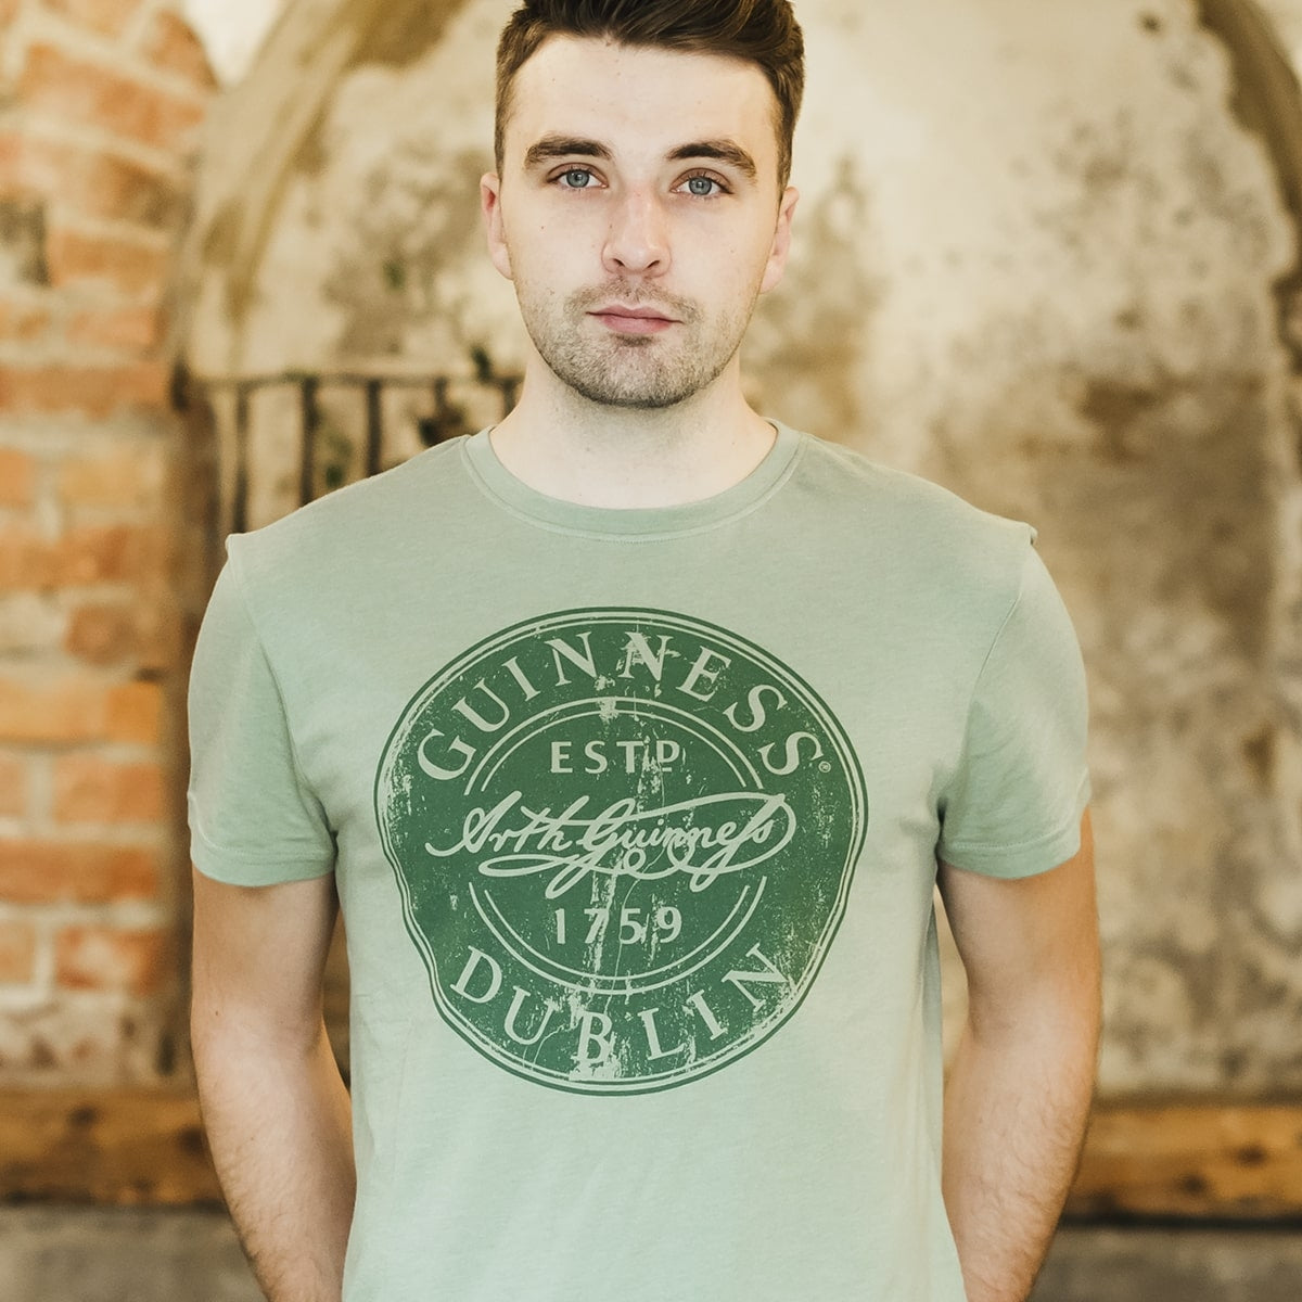
[[[1098,1021],[1046,1012],[978,1035],[945,1091],[945,1207],[969,1302],[1023,1302],[1075,1174],[1094,1090]]]

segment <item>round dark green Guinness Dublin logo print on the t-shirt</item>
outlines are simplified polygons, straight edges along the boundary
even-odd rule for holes
[[[467,651],[408,706],[375,784],[444,1019],[585,1094],[685,1085],[794,1013],[866,803],[845,733],[790,669],[642,609]]]

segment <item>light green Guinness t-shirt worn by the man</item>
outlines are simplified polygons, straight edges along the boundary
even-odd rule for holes
[[[1051,868],[1088,786],[1032,540],[785,427],[689,505],[482,432],[229,540],[193,854],[336,874],[346,1302],[961,1302],[936,855]]]

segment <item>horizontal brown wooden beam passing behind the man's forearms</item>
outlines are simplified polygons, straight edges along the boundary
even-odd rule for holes
[[[221,1199],[182,1092],[0,1094],[0,1202],[184,1206]],[[1074,1219],[1302,1219],[1302,1101],[1101,1104]]]

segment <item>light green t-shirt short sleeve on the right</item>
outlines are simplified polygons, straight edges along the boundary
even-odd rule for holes
[[[940,858],[999,878],[1043,872],[1079,849],[1090,799],[1085,667],[1035,549],[973,690],[963,751],[940,801]]]

